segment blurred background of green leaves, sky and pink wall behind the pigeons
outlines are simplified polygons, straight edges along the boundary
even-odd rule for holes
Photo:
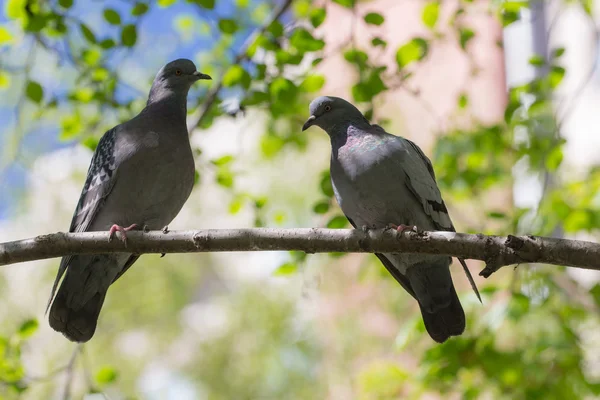
[[[459,231],[598,239],[593,0],[0,4],[0,241],[68,228],[100,136],[180,57],[214,80],[190,92],[171,229],[346,227],[328,138],[301,132],[330,94],[430,155]],[[600,396],[596,272],[504,268],[481,305],[455,265],[467,330],[437,345],[372,255],[146,255],[79,348],[44,317],[57,267],[1,270],[2,398]]]

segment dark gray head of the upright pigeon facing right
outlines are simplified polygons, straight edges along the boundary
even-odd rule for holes
[[[180,58],[171,61],[156,74],[152,89],[150,89],[148,104],[173,95],[186,98],[192,84],[200,79],[210,80],[212,78],[198,72],[194,63],[188,59]]]

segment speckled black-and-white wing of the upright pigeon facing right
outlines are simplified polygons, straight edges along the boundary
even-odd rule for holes
[[[116,129],[117,127],[107,131],[98,142],[79,202],[73,213],[69,232],[85,232],[87,230],[115,184],[117,169],[115,158]],[[65,273],[71,258],[71,256],[63,257],[60,261],[46,311],[52,303],[58,282]]]

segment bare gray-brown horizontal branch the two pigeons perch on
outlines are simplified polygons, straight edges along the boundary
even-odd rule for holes
[[[53,233],[0,243],[0,265],[75,254],[127,252],[197,253],[297,250],[306,253],[420,253],[482,260],[479,275],[489,277],[505,265],[544,263],[600,270],[600,244],[539,236],[486,236],[455,232],[393,229],[205,229],[129,232],[127,244],[108,241],[108,232]]]

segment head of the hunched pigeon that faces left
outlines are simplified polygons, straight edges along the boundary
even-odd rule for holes
[[[334,127],[340,124],[369,124],[358,108],[339,97],[318,97],[310,103],[309,111],[310,117],[302,127],[303,131],[316,125],[331,135]]]

